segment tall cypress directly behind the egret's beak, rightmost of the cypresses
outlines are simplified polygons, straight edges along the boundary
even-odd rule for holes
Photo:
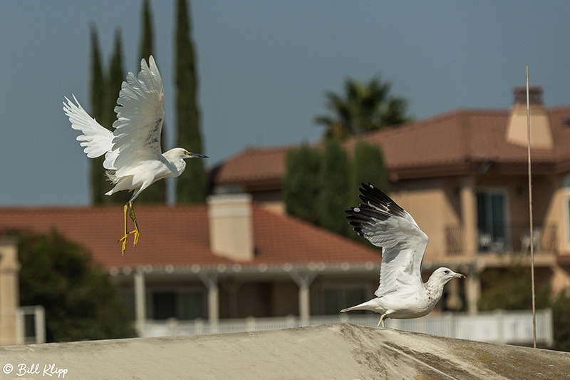
[[[195,53],[190,37],[190,17],[186,0],[177,1],[176,23],[176,125],[177,146],[202,153],[197,106]],[[204,202],[207,179],[201,159],[187,160],[185,173],[177,178],[177,202]]]

